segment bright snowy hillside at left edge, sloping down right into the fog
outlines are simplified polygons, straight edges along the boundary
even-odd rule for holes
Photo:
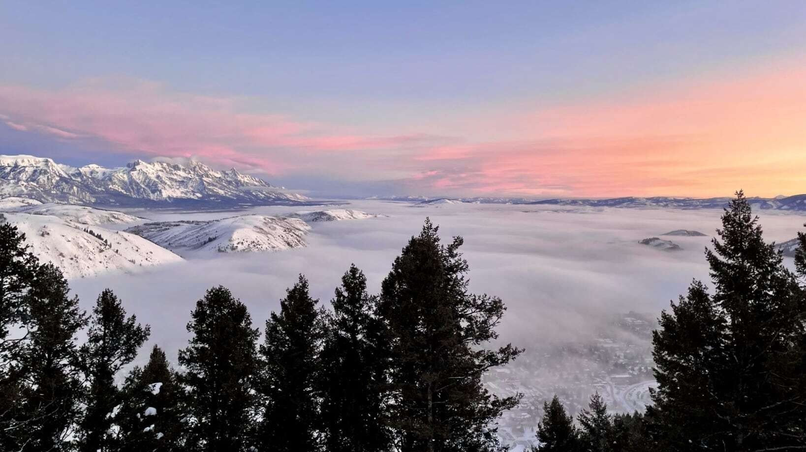
[[[56,216],[3,213],[7,221],[25,233],[39,261],[52,262],[68,278],[106,272],[134,273],[152,265],[181,261],[176,254],[127,232],[93,227]]]

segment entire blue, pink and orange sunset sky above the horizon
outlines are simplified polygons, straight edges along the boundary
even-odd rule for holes
[[[0,42],[0,154],[314,195],[806,191],[799,0],[5,0]]]

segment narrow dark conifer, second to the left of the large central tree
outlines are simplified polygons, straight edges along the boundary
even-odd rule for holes
[[[318,397],[314,393],[320,375],[322,313],[318,300],[310,298],[308,281],[297,284],[280,301],[280,314],[266,321],[262,392],[266,401],[260,427],[262,450],[310,452],[319,449]]]

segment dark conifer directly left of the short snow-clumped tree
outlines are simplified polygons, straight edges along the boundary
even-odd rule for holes
[[[81,450],[109,450],[112,425],[109,413],[122,402],[122,394],[114,378],[123,366],[131,363],[143,346],[151,328],[141,327],[135,315],[126,310],[115,294],[104,290],[89,318],[87,341],[81,347],[82,364],[89,381],[84,418],[81,420]]]

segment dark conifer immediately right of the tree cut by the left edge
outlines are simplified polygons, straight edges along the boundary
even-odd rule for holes
[[[19,450],[69,450],[83,396],[76,335],[87,323],[55,265],[35,271],[25,302],[29,339],[15,352],[23,376]]]

